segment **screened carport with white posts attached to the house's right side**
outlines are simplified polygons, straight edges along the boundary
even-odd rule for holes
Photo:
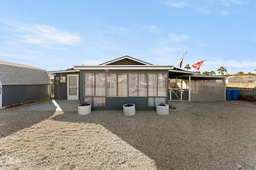
[[[175,69],[169,70],[169,101],[226,100],[226,76],[197,75]]]

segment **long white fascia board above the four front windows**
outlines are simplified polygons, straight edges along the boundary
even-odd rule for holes
[[[173,65],[96,65],[73,66],[74,70],[170,70]]]

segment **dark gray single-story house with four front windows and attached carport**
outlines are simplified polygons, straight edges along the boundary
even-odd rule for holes
[[[55,99],[86,100],[92,110],[121,110],[127,102],[136,104],[136,110],[154,110],[156,104],[169,100],[226,98],[224,76],[199,76],[173,65],[153,65],[129,56],[47,73],[54,75]],[[170,79],[176,80],[175,87],[169,88]]]

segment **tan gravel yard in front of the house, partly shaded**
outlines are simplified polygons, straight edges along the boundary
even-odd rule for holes
[[[256,170],[254,102],[194,102],[168,115],[18,111],[40,102],[0,110],[0,169]]]

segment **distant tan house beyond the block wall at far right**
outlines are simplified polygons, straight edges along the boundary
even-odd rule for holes
[[[226,83],[254,83],[256,82],[255,74],[232,75],[227,76]]]

